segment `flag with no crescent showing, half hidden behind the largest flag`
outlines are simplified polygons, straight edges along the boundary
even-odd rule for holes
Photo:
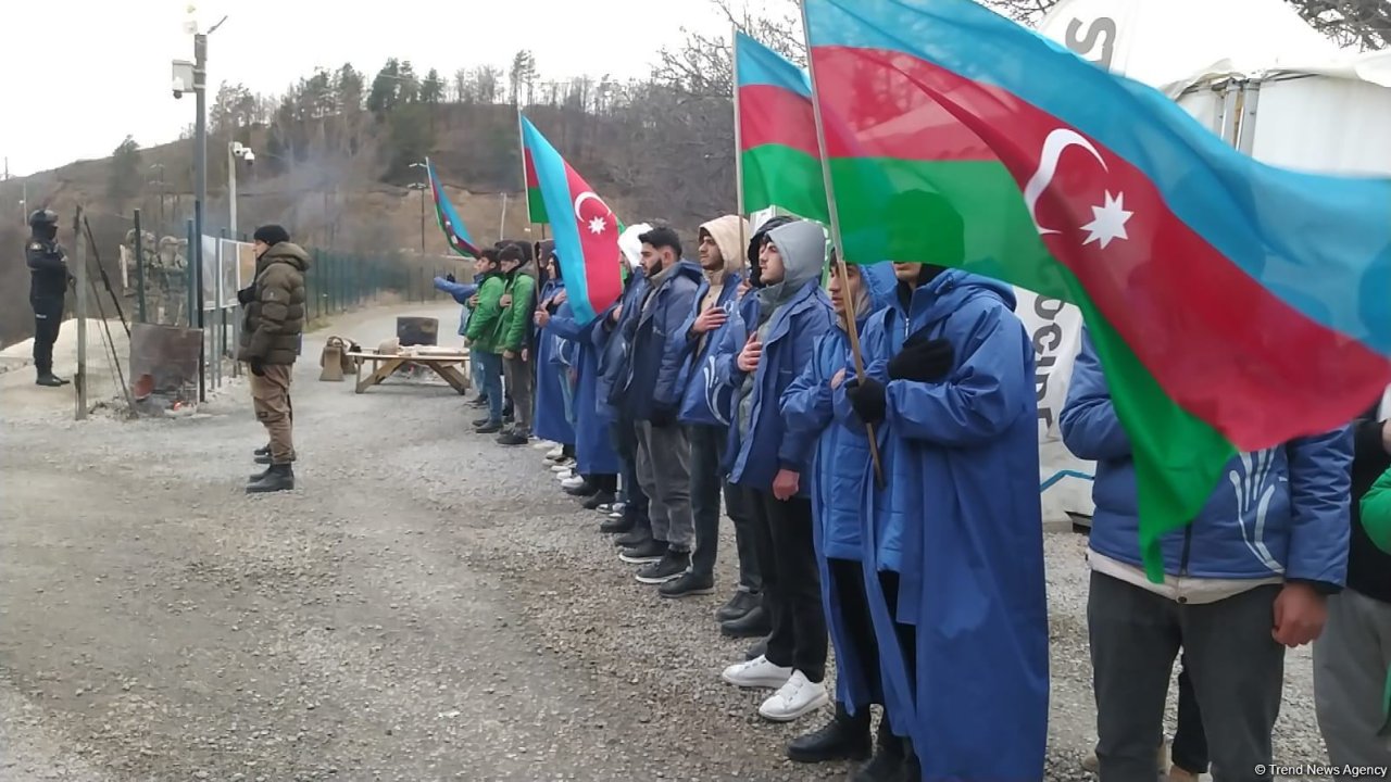
[[[734,32],[734,115],[744,213],[779,206],[826,223],[826,185],[807,71]]]

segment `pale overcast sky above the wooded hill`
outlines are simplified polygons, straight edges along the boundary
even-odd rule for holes
[[[754,8],[768,0],[747,0]],[[711,0],[195,0],[209,38],[209,90],[224,79],[282,92],[316,65],[351,61],[371,77],[387,57],[452,77],[506,67],[523,47],[541,78],[648,71],[682,25],[726,29]],[[744,6],[734,0],[734,6]],[[776,3],[775,3],[776,4]],[[778,4],[780,6],[780,4]],[[0,157],[11,175],[104,157],[132,134],[142,146],[178,138],[193,99],[174,100],[171,61],[193,58],[186,0],[3,1]]]

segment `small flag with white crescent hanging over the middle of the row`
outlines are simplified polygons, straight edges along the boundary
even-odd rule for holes
[[[623,292],[620,267],[625,262],[618,249],[622,224],[526,117],[522,118],[522,143],[527,171],[536,173],[537,202],[544,205],[547,214],[573,216],[551,223],[551,232],[574,319],[590,323]]]

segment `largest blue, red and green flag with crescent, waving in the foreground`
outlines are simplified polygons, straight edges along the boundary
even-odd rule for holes
[[[804,8],[822,113],[851,127],[826,139],[846,256],[1082,309],[1150,579],[1238,449],[1342,426],[1391,381],[1391,181],[1252,160],[971,0]]]

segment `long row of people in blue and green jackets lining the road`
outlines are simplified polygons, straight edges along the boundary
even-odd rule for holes
[[[822,225],[789,217],[705,223],[698,262],[664,225],[629,228],[620,246],[622,296],[590,323],[549,244],[498,242],[472,281],[435,281],[463,305],[476,430],[555,444],[565,491],[606,513],[598,529],[662,597],[714,593],[719,520],[732,519],[739,583],[715,621],[755,640],[711,675],[771,690],[758,707],[769,721],[835,703],[791,760],[862,761],[861,782],[1042,779],[1034,345],[1013,289],[921,263],[842,266]],[[281,244],[263,252],[295,269]],[[274,326],[285,288],[260,285],[248,295]],[[275,355],[250,326],[248,345]],[[1334,776],[1387,774],[1388,419],[1391,394],[1345,427],[1234,458],[1199,516],[1164,537],[1153,583],[1131,444],[1084,340],[1061,431],[1097,465],[1088,765],[1103,781],[1209,767],[1219,781],[1271,779],[1284,654],[1308,643]],[[292,459],[271,434],[271,463]]]

